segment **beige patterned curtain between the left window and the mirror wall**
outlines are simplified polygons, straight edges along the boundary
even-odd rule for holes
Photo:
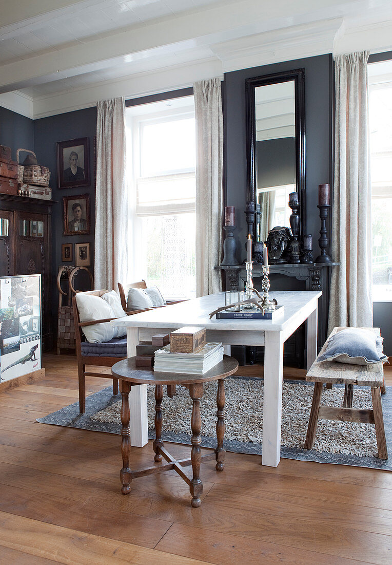
[[[195,82],[196,296],[222,290],[223,116],[221,80]]]

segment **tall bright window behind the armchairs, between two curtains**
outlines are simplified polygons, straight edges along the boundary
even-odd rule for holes
[[[196,150],[193,97],[127,108],[135,276],[165,298],[194,297]]]

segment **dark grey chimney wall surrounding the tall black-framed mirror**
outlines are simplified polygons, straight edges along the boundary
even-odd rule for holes
[[[245,79],[270,73],[305,68],[305,133],[306,133],[306,233],[314,241],[315,257],[319,255],[320,219],[318,185],[331,184],[332,128],[331,90],[332,57],[320,55],[283,63],[253,67],[225,73],[224,107],[224,179],[226,206],[236,207],[238,259],[245,259],[246,221],[243,210],[248,199],[246,180],[246,115]]]

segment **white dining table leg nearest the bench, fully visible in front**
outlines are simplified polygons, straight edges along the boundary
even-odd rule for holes
[[[278,467],[283,385],[283,336],[265,332],[262,465]]]

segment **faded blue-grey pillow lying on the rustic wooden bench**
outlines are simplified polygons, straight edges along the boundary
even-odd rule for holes
[[[318,361],[338,361],[353,365],[368,365],[387,361],[382,353],[382,337],[363,328],[347,328],[328,340],[327,349]]]

